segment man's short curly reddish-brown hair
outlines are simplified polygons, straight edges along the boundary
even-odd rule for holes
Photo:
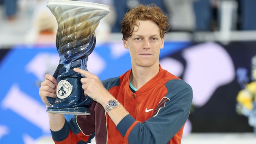
[[[156,4],[143,5],[140,4],[135,8],[130,9],[123,18],[121,22],[121,33],[123,34],[123,40],[127,40],[132,36],[134,32],[133,26],[139,25],[136,23],[138,20],[152,20],[154,21],[160,29],[160,37],[163,38],[165,33],[169,31],[169,23],[167,14],[164,13],[161,8],[156,6]]]

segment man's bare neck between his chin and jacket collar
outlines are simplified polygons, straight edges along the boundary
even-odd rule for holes
[[[150,81],[159,72],[159,64],[152,67],[132,67],[130,82],[133,87],[139,89]]]

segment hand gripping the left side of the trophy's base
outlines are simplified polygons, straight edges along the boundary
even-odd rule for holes
[[[46,74],[46,80],[41,83],[39,95],[47,107],[50,106],[47,97],[56,97],[57,85],[57,80],[52,75]]]

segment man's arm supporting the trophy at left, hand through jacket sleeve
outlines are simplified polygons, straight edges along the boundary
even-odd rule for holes
[[[46,104],[46,108],[50,106],[47,97],[56,97],[56,87],[56,79],[52,75],[46,74],[46,80],[41,83],[41,87],[39,89],[39,95],[43,103]],[[48,116],[52,139],[56,144],[67,144],[70,142],[77,144],[81,140],[91,142],[90,140],[94,137],[93,132],[91,132],[90,135],[85,136],[80,131],[76,123],[76,116],[74,116],[74,118],[69,122],[65,120],[63,114],[48,113]]]

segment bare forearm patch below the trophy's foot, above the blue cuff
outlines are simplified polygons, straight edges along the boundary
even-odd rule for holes
[[[63,114],[48,113],[50,129],[52,131],[59,131],[65,123],[65,117]]]

